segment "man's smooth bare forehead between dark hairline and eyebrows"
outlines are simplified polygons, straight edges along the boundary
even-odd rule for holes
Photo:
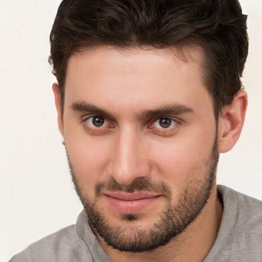
[[[70,57],[65,79],[65,105],[75,101],[95,103],[104,108],[143,110],[165,103],[190,103],[203,95],[202,49],[156,49],[144,47],[121,50],[97,47]],[[112,101],[115,104],[112,104]]]

